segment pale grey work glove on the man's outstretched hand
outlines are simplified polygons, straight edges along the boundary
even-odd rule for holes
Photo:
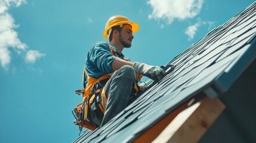
[[[132,65],[136,73],[147,76],[155,81],[161,80],[165,76],[165,70],[157,66],[149,66],[144,63],[134,62]]]

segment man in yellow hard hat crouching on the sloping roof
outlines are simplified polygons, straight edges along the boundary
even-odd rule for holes
[[[107,42],[97,42],[88,52],[84,70],[84,101],[88,101],[87,119],[95,127],[103,126],[127,107],[131,95],[140,87],[141,75],[161,80],[165,71],[157,66],[132,63],[124,58],[124,48],[130,48],[133,33],[139,26],[127,17],[111,17],[103,36]]]

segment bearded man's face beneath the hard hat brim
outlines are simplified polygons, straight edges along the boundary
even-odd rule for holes
[[[124,48],[130,48],[131,47],[131,42],[134,36],[132,35],[132,29],[131,26],[128,24],[125,24],[122,27],[122,30],[120,32],[120,35],[118,37],[119,42],[124,45]]]

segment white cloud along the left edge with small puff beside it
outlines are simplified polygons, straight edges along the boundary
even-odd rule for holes
[[[10,7],[19,7],[21,4],[25,3],[26,0],[0,0],[0,62],[4,69],[8,69],[8,65],[11,62],[10,48],[13,48],[18,54],[20,54],[21,51],[27,50],[26,43],[18,39],[18,33],[15,30],[18,28],[18,25],[15,24],[12,15],[8,13]],[[27,52],[30,53],[29,51]],[[40,52],[38,53],[40,55]],[[36,55],[35,60],[39,55]],[[32,62],[35,62],[35,60],[33,61],[32,59],[33,58],[30,58]]]

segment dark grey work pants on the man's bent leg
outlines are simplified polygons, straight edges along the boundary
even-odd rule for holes
[[[96,126],[104,126],[124,110],[127,107],[134,83],[135,71],[131,66],[123,66],[115,71],[104,87],[107,97],[105,113],[100,113],[100,109],[90,111],[91,121]]]

